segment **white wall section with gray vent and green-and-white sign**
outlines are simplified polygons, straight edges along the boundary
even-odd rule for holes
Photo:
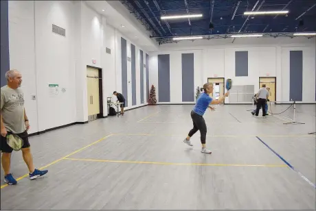
[[[35,1],[39,131],[75,121],[73,14],[74,3],[71,1]],[[52,33],[52,24],[66,29],[66,36]],[[49,97],[48,84],[59,85],[57,97]],[[66,88],[66,92],[61,92],[61,88]],[[60,114],[58,119],[56,114]]]

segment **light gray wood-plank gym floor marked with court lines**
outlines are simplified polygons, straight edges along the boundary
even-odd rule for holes
[[[14,152],[19,182],[1,186],[1,209],[315,210],[315,105],[297,105],[304,125],[283,124],[291,108],[266,119],[251,105],[216,108],[204,116],[212,155],[201,153],[199,132],[193,147],[182,141],[192,105],[146,106],[32,136],[34,164],[49,173],[30,181]]]

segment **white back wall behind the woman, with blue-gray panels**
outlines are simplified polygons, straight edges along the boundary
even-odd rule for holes
[[[157,55],[170,54],[170,103],[182,103],[179,94],[179,87],[181,90],[182,86],[181,53],[194,52],[194,89],[203,86],[207,77],[225,77],[231,78],[234,85],[253,85],[256,92],[259,77],[277,77],[276,100],[289,102],[289,51],[299,49],[303,51],[304,87],[301,103],[315,103],[315,40],[297,38],[300,42],[290,43],[291,39],[282,39],[266,38],[263,41],[251,41],[248,45],[245,40],[239,41],[242,45],[224,41],[221,41],[224,45],[190,46],[191,42],[187,42],[186,47],[181,42],[162,45],[161,51],[150,53],[150,84],[155,85],[158,96]],[[248,77],[235,76],[235,51],[248,51]],[[229,103],[229,97],[225,103]]]

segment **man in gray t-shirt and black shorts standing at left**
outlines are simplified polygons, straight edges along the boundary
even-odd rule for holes
[[[37,177],[45,175],[48,171],[40,171],[34,168],[27,134],[30,125],[24,108],[23,91],[20,88],[22,75],[19,71],[11,70],[5,73],[5,78],[8,84],[1,87],[1,164],[4,171],[4,182],[12,185],[17,182],[10,173],[10,159],[13,149],[6,141],[8,134],[16,134],[23,140],[21,151],[23,160],[30,171],[30,179],[36,179]]]

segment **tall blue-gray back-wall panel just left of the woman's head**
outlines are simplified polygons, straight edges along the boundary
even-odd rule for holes
[[[182,53],[182,101],[194,101],[194,53]]]

